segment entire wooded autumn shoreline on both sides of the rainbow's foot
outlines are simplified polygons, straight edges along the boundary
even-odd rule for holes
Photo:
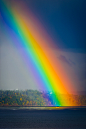
[[[53,97],[52,97],[53,96]],[[69,102],[64,106],[86,106],[86,95],[61,95],[63,102]],[[37,90],[0,90],[0,106],[53,106],[55,102],[54,93],[39,92]]]

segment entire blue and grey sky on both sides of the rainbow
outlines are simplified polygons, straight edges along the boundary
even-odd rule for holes
[[[8,3],[10,0],[6,0]],[[86,91],[85,0],[24,0],[55,46],[51,51],[67,69],[78,92]],[[0,15],[0,89],[37,89],[30,69],[5,33]],[[21,48],[25,49],[25,48]],[[44,89],[42,89],[44,90]]]

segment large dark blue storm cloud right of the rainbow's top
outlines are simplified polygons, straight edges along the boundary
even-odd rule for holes
[[[26,0],[59,48],[86,51],[85,0]],[[59,43],[57,40],[62,42]]]

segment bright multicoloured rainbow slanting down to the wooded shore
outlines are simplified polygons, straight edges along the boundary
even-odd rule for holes
[[[22,1],[10,1],[9,4],[0,0],[0,8],[6,34],[16,47],[25,48],[20,53],[38,87],[54,92],[52,99],[56,102],[55,106],[70,105],[59,93],[68,95],[74,90],[73,83],[63,65],[56,60],[52,51],[55,43],[41,23]]]

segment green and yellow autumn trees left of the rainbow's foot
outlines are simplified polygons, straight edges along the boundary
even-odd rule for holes
[[[0,106],[49,106],[51,102],[37,90],[0,90]]]

